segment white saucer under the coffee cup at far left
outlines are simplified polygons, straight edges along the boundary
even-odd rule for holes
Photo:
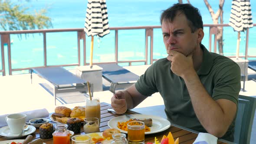
[[[0,135],[4,136],[4,137],[10,137],[10,138],[18,138],[18,137],[24,137],[24,136],[27,136],[29,134],[32,134],[33,132],[36,131],[36,128],[32,125],[28,125],[26,124],[29,129],[27,131],[24,131],[22,135],[20,134],[11,134],[10,132],[10,128],[9,126],[5,126],[3,128],[0,128]]]

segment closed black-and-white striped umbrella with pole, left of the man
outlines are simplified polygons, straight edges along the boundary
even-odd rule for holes
[[[85,33],[91,36],[90,67],[92,68],[93,36],[103,37],[110,33],[106,0],[88,0],[85,18]]]

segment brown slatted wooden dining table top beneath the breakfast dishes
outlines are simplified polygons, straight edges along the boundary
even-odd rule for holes
[[[105,102],[101,102],[100,103],[101,106],[101,123],[100,123],[100,131],[104,131],[106,129],[108,129],[108,121],[111,120],[112,118],[121,116],[122,114],[116,114],[113,112],[109,112],[107,109],[108,108],[112,108],[111,105],[109,105],[108,103]],[[138,114],[135,111],[127,111],[127,114]],[[51,114],[50,114],[51,115]],[[49,119],[49,123],[55,123],[54,121],[51,121],[50,118]],[[165,131],[161,131],[155,134],[147,134],[145,135],[145,144],[147,144],[147,142],[153,142],[154,143],[154,138],[158,138],[159,141],[161,141],[161,138],[163,137],[163,135],[167,135],[169,132],[171,131],[174,140],[177,139],[177,137],[179,137],[179,144],[193,144],[193,142],[195,141],[195,139],[197,138],[197,133],[193,132],[193,130],[189,130],[186,128],[182,128],[180,126],[177,126],[175,124],[171,124],[171,127],[168,128]],[[80,134],[85,134],[83,132],[83,127],[81,126],[81,133]],[[36,128],[36,131],[31,134],[33,136],[33,139],[37,139],[40,138],[39,136],[39,128]],[[76,134],[75,134],[76,135]],[[15,139],[25,139],[25,137],[20,137],[20,138],[15,138]],[[11,139],[8,137],[3,137],[0,136],[0,141],[7,141],[7,140],[13,140],[15,141],[15,139]],[[53,144],[53,138],[50,139],[43,139],[43,142],[46,144]],[[221,140],[219,139],[217,144],[227,144],[225,140]]]

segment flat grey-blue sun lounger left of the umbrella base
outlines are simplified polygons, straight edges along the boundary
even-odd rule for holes
[[[46,79],[54,86],[53,96],[56,105],[56,94],[64,92],[88,92],[85,80],[76,77],[74,74],[62,67],[44,67],[30,69],[31,83],[32,73],[36,73],[39,77]],[[90,84],[93,95],[93,86]]]

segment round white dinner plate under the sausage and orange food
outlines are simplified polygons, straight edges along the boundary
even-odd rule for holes
[[[151,131],[145,132],[145,134],[154,134],[154,133],[158,133],[164,130],[167,130],[168,128],[171,127],[171,123],[170,121],[168,121],[165,118],[161,118],[158,116],[154,116],[154,115],[131,115],[132,118],[136,118],[136,119],[140,119],[140,120],[144,120],[144,119],[148,119],[151,118],[152,119],[152,126],[149,127],[151,129]],[[121,131],[121,133],[125,133],[127,134],[127,131],[121,130],[120,128],[118,128],[118,122],[125,122],[128,121],[130,118],[128,118],[125,115],[116,117],[116,118],[112,118],[110,121],[108,121],[108,126],[110,128],[115,128],[118,129],[119,131]]]

